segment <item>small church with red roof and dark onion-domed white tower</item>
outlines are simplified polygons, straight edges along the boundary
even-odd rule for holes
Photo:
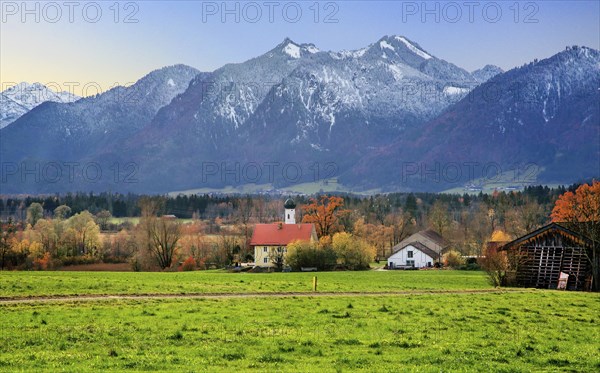
[[[283,222],[254,227],[250,246],[254,249],[254,263],[258,267],[274,267],[276,257],[285,257],[287,245],[293,241],[318,240],[314,224],[296,223],[296,203],[292,199],[286,200],[283,207]]]

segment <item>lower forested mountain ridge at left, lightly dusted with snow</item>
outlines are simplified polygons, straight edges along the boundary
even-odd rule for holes
[[[198,74],[189,66],[169,66],[129,87],[118,86],[73,103],[43,103],[0,130],[0,156],[15,162],[108,162],[107,149],[140,131]]]

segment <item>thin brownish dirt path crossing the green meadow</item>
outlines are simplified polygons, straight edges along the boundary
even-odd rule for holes
[[[460,290],[405,290],[394,292],[272,292],[272,293],[204,293],[204,294],[86,294],[53,295],[32,297],[0,297],[0,305],[19,303],[48,302],[88,302],[104,300],[144,300],[144,299],[228,299],[228,298],[294,298],[294,297],[377,297],[406,295],[448,295],[448,294],[486,294],[520,293],[527,289],[460,289]]]

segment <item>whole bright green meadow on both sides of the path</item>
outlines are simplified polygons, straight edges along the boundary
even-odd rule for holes
[[[318,273],[319,289],[408,293],[318,296],[312,276],[0,273],[2,297],[253,294],[0,301],[0,371],[600,371],[598,294],[493,292],[480,272],[369,271]],[[307,294],[270,296],[289,291]]]

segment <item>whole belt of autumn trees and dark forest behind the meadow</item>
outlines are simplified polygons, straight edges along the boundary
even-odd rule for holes
[[[292,245],[289,257],[323,255],[329,267],[364,268],[369,261],[385,260],[394,245],[427,228],[445,237],[450,251],[480,256],[495,231],[514,238],[548,223],[559,196],[578,187],[532,186],[477,195],[295,196],[297,220],[314,223],[320,241],[313,247]],[[0,264],[3,269],[44,269],[129,262],[137,270],[164,270],[182,268],[185,262],[186,268],[218,268],[252,261],[254,224],[281,221],[283,200],[111,193],[0,198]],[[124,216],[137,221],[115,219]]]

